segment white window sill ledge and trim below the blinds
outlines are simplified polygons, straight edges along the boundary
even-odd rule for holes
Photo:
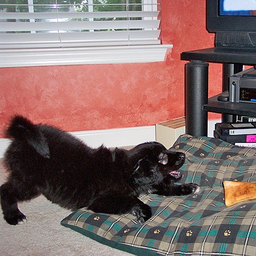
[[[143,63],[164,61],[172,44],[44,49],[1,49],[0,67]]]

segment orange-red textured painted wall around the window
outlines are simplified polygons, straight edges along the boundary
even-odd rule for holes
[[[14,113],[67,131],[155,125],[184,115],[180,53],[213,47],[205,0],[162,0],[162,63],[0,69],[0,138]],[[209,95],[221,91],[221,65],[210,64]],[[217,82],[216,82],[217,77]],[[213,116],[214,117],[214,116]]]

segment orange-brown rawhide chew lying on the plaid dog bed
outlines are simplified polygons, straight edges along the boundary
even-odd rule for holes
[[[256,199],[256,183],[223,181],[226,207]]]

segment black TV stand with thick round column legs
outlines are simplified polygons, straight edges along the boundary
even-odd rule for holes
[[[242,71],[243,64],[256,64],[256,53],[215,50],[207,48],[181,53],[181,60],[189,60],[185,64],[186,133],[196,137],[207,136],[208,112],[222,113],[223,122],[232,122],[233,115],[256,117],[256,104],[218,101],[220,94],[208,101],[209,62],[222,63],[222,92],[225,92],[229,76]]]

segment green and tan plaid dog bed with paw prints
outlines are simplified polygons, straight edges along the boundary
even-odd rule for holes
[[[256,149],[183,135],[171,150],[186,154],[180,183],[199,184],[198,194],[143,196],[153,212],[143,225],[131,214],[99,214],[85,208],[64,218],[61,225],[135,255],[255,256],[255,200],[227,208],[222,181],[255,183]]]

